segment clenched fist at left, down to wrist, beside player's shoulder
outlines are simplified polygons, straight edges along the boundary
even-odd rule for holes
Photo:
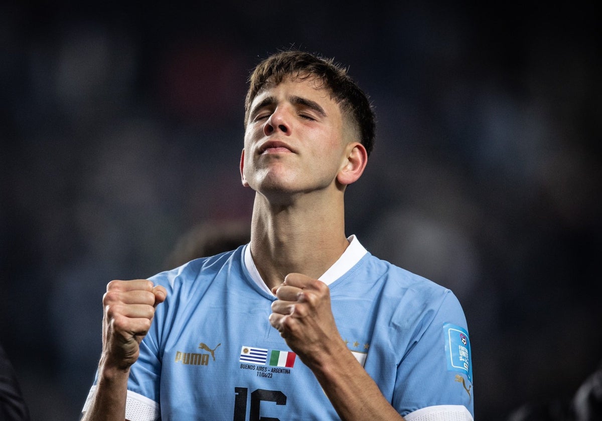
[[[139,345],[151,328],[155,308],[167,290],[146,279],[111,281],[102,298],[104,363],[126,370],[138,359]]]

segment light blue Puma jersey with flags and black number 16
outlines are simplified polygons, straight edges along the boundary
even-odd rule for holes
[[[339,420],[270,325],[276,297],[249,271],[246,247],[151,278],[167,299],[131,367],[128,419]],[[472,419],[471,350],[458,300],[359,247],[364,253],[343,254],[335,263],[341,275],[327,282],[347,347],[406,419]]]

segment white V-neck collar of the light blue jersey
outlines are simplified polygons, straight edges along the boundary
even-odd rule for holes
[[[318,280],[330,285],[338,278],[343,276],[347,271],[349,271],[349,269],[353,268],[353,266],[355,266],[355,264],[358,263],[366,253],[368,253],[364,246],[359,243],[359,240],[355,235],[349,236],[347,241],[349,241],[349,246],[345,249],[343,254],[341,254],[341,257],[339,257],[334,265],[330,266],[330,268],[324,272],[324,274],[321,275]],[[251,248],[249,247],[249,244],[244,246],[244,266],[247,268],[247,271],[249,271],[253,281],[255,281],[255,283],[262,290],[270,295],[273,295],[272,291],[268,289],[265,282],[261,279],[261,275],[259,275],[257,266],[255,266],[255,262],[253,262],[253,257],[251,256]]]

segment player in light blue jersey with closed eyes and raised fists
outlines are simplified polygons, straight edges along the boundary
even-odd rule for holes
[[[84,419],[473,419],[458,300],[345,235],[373,138],[367,97],[332,61],[259,64],[240,160],[250,243],[108,284]]]

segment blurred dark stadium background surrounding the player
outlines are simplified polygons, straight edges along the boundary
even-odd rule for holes
[[[568,402],[602,361],[594,2],[203,3],[0,5],[0,343],[33,419],[78,419],[108,281],[249,221],[246,79],[290,46],[370,94],[347,233],[458,295],[476,419]]]

